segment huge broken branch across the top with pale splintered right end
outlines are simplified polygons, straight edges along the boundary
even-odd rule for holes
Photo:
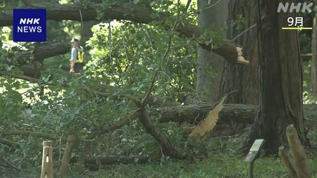
[[[28,4],[31,8],[45,8],[47,10],[48,20],[74,20],[83,21],[96,20],[96,9],[101,5],[93,3],[90,6],[83,6],[80,4]],[[81,15],[80,15],[81,12]],[[130,20],[137,23],[149,24],[154,20],[164,20],[169,14],[159,13],[156,18],[151,17],[153,11],[147,7],[137,6],[132,3],[122,4],[121,6],[111,6],[103,9],[103,16],[101,20],[116,19],[116,20]],[[13,21],[12,11],[0,13],[0,26],[10,26]],[[185,25],[176,29],[181,36],[192,38],[202,36],[202,31],[194,25]],[[241,48],[234,42],[223,39],[222,45],[218,48],[211,49],[211,45],[201,44],[203,48],[212,50],[213,52],[223,56],[228,62],[248,64],[244,60]]]

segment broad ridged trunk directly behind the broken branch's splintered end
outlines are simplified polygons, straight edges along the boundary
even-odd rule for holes
[[[237,29],[238,24],[229,24],[237,21],[239,16],[245,19],[243,28]],[[231,0],[228,13],[227,39],[234,39],[243,31],[257,24],[257,0]],[[258,104],[258,37],[257,28],[252,27],[236,38],[236,42],[243,46],[243,53],[249,66],[234,65],[223,60],[224,68],[220,84],[219,99],[226,93],[238,90],[230,95],[227,103]]]

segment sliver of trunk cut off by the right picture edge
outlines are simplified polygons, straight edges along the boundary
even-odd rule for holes
[[[314,94],[317,94],[317,16],[314,17],[312,53],[312,90]]]

